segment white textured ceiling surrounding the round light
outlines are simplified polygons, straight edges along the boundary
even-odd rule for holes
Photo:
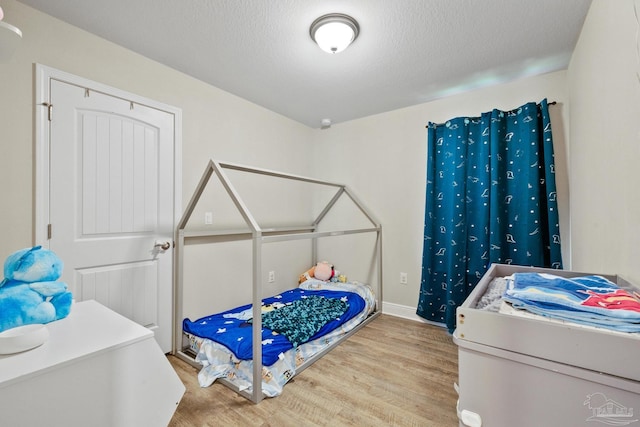
[[[590,0],[19,0],[317,128],[565,69]],[[309,26],[360,36],[321,51]]]

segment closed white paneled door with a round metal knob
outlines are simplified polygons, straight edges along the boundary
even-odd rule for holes
[[[120,95],[120,94],[119,94]],[[49,81],[49,248],[95,299],[171,350],[174,115]]]

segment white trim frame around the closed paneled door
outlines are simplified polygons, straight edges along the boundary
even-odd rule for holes
[[[134,104],[144,105],[173,115],[174,117],[174,236],[175,224],[182,216],[182,110],[161,102],[150,100],[120,89],[116,89],[101,83],[97,83],[73,74],[66,73],[41,64],[35,64],[35,141],[34,141],[34,216],[33,216],[33,244],[49,247],[48,224],[49,222],[49,99],[50,81],[59,80],[64,83],[88,88],[94,92],[101,92],[105,95],[121,98]],[[55,108],[52,110],[55,114]],[[172,260],[173,263],[173,260]],[[171,277],[172,284],[175,281],[174,274]],[[175,289],[175,286],[172,286]],[[175,295],[172,297],[172,313],[175,315]],[[175,322],[171,322],[171,325]],[[171,336],[173,337],[173,333]]]

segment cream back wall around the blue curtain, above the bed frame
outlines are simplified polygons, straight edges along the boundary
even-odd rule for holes
[[[558,169],[563,258],[568,264],[566,72],[453,95],[316,131],[313,157],[317,175],[348,183],[382,223],[385,310],[413,317],[418,301],[427,123],[442,123],[457,116],[478,116],[493,108],[511,110],[545,97],[558,103],[551,106],[550,111]],[[399,283],[400,272],[408,273],[407,285]]]

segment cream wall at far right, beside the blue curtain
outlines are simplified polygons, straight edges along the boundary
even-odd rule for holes
[[[634,1],[594,0],[567,74],[573,266],[621,274],[635,283],[640,283],[638,27]]]

